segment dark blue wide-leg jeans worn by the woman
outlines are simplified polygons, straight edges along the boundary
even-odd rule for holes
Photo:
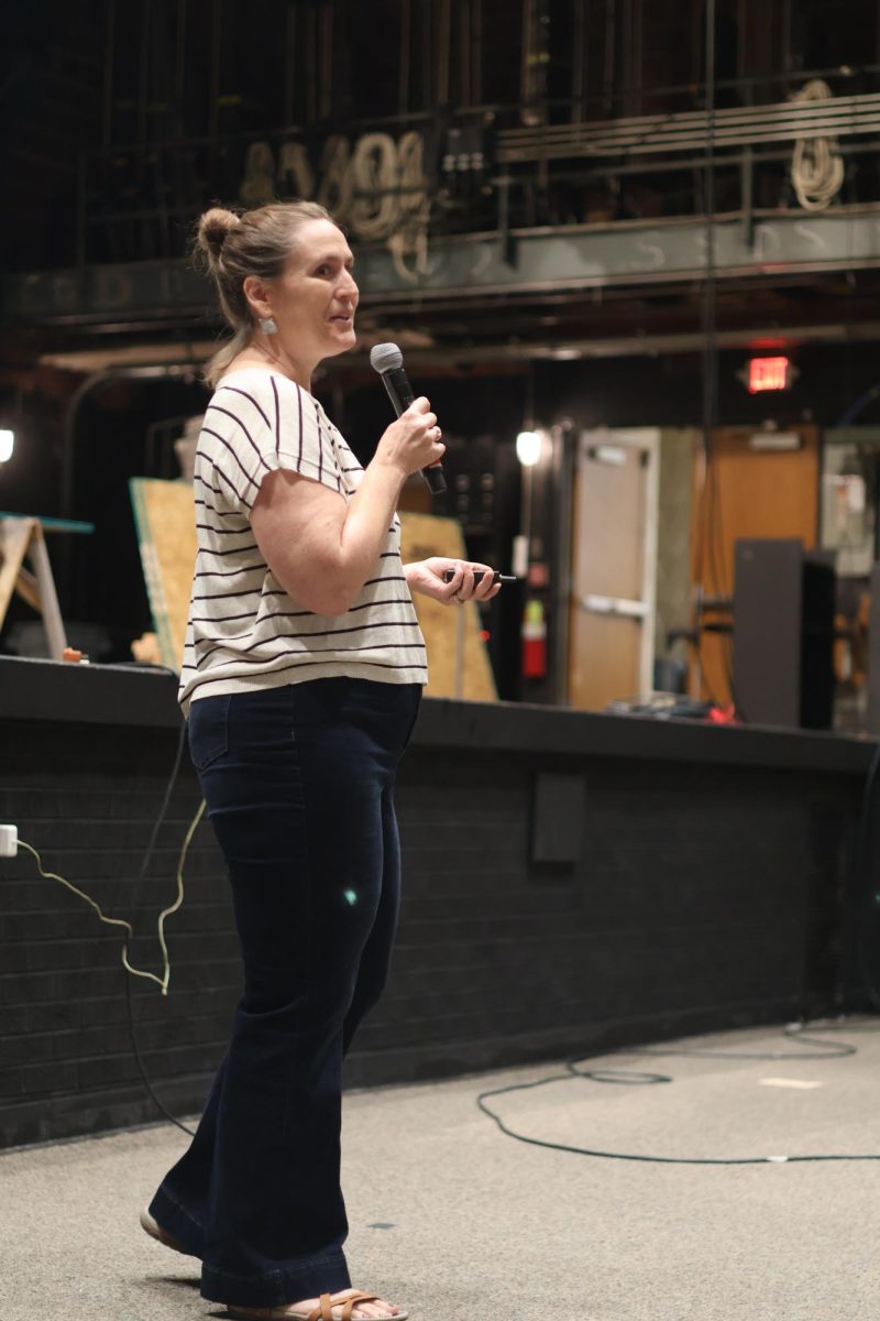
[[[195,1137],[150,1213],[202,1259],[211,1301],[277,1306],[351,1284],[342,1062],[388,976],[392,793],[420,697],[418,684],[340,678],[191,705],[244,995]]]

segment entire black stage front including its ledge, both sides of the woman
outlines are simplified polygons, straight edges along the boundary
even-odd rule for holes
[[[0,658],[0,823],[131,921],[129,958],[154,972],[156,919],[199,803],[185,756],[139,881],[181,731],[175,690],[149,667]],[[397,790],[394,967],[347,1085],[864,1008],[873,831],[859,875],[855,857],[875,748],[426,699]],[[204,823],[185,881],[169,996],[132,984],[148,1071],[178,1114],[201,1108],[240,993]],[[0,1145],[157,1118],[132,1054],[119,929],[24,849],[0,859]]]

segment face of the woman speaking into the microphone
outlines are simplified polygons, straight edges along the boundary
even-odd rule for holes
[[[358,285],[346,238],[331,221],[307,221],[267,299],[280,347],[297,359],[319,362],[355,345]]]

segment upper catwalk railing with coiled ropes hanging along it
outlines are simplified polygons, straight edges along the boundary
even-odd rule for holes
[[[193,219],[215,198],[245,206],[270,197],[323,198],[329,172],[330,193],[336,201],[347,197],[355,210],[393,211],[394,206],[383,206],[391,196],[401,234],[404,222],[412,225],[413,198],[421,194],[422,246],[450,234],[507,236],[517,229],[559,229],[595,218],[637,219],[643,213],[639,198],[631,201],[633,176],[652,194],[652,209],[644,214],[665,219],[701,214],[710,162],[723,184],[719,206],[740,211],[747,225],[756,206],[880,202],[880,91],[835,96],[825,79],[805,78],[786,81],[792,87],[786,100],[715,111],[505,127],[520,118],[521,107],[463,107],[441,122],[404,116],[351,124],[344,133],[329,125],[265,129],[90,152],[80,161],[77,264],[181,256]],[[876,85],[873,71],[864,75],[863,87]],[[772,79],[768,87],[749,83],[730,94],[752,99],[778,95],[777,87],[778,79]],[[695,87],[691,95],[699,98],[702,90]],[[553,114],[563,110],[555,107]],[[418,186],[401,166],[401,145],[416,137],[424,152]],[[381,169],[365,159],[355,170],[365,139],[385,141]],[[340,143],[344,169],[338,168],[339,155],[329,152]],[[253,193],[249,161],[256,148],[268,164]],[[292,153],[302,166],[293,172]],[[802,164],[806,157],[801,173],[809,174],[819,157],[827,166],[814,203],[805,201],[796,157]],[[310,180],[310,192],[303,190],[303,178]],[[332,198],[330,205],[338,210]],[[352,238],[368,240],[356,227]],[[394,226],[377,240],[392,243]]]

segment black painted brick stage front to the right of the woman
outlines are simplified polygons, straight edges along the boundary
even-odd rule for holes
[[[583,857],[551,867],[529,861],[541,760],[410,752],[394,972],[359,1038],[383,1077],[402,1052],[427,1077],[836,1001],[846,786],[578,758]]]

